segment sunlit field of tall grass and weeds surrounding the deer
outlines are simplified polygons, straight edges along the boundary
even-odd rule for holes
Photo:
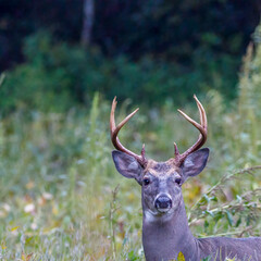
[[[183,188],[199,237],[260,235],[261,59],[248,52],[234,104],[213,90],[199,97],[211,156]],[[132,109],[130,101],[119,101],[116,121]],[[159,161],[173,156],[174,141],[183,151],[198,134],[176,109],[171,102],[140,108],[122,141],[137,152],[145,142],[148,157]],[[192,98],[183,110],[198,119]],[[86,110],[21,110],[1,119],[0,260],[145,260],[140,187],[114,169],[109,112],[97,95]]]

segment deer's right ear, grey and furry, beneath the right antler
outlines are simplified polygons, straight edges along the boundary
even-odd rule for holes
[[[208,148],[195,151],[194,153],[189,154],[182,165],[185,179],[187,179],[189,176],[198,175],[204,169],[208,158]]]

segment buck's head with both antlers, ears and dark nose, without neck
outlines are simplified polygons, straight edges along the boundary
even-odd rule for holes
[[[116,97],[112,102],[110,129],[112,144],[116,148],[116,150],[112,151],[112,158],[116,170],[123,176],[135,178],[141,185],[142,208],[145,214],[149,216],[157,217],[173,214],[183,201],[182,185],[188,177],[198,175],[207,164],[209,149],[200,149],[207,140],[207,115],[197,97],[194,96],[194,98],[200,113],[200,124],[183,111],[178,110],[178,112],[200,132],[199,138],[182,154],[178,152],[176,144],[174,144],[174,157],[165,162],[147,159],[145,145],[140,156],[138,156],[121,144],[117,137],[119,132],[137,113],[138,109],[116,126],[114,120]]]

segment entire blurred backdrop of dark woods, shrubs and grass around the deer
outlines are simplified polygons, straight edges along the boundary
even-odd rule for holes
[[[259,0],[0,0],[0,260],[144,260],[140,187],[121,139],[167,160],[209,119],[211,157],[184,185],[198,236],[260,236]]]

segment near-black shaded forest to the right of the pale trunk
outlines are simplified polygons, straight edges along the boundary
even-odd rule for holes
[[[111,54],[188,59],[199,46],[238,53],[259,23],[259,1],[97,0],[95,41]],[[171,54],[171,55],[170,55]]]

